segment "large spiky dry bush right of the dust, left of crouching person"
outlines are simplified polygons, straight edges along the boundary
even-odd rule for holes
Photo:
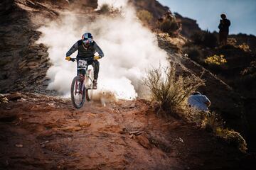
[[[204,85],[204,81],[194,75],[177,76],[176,66],[172,64],[164,70],[161,67],[149,70],[144,84],[149,87],[152,99],[164,111],[174,113],[175,108],[186,106],[188,96]]]

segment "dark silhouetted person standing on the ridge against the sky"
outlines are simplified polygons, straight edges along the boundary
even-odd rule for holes
[[[227,19],[227,16],[224,13],[222,13],[220,17],[221,17],[221,20],[218,26],[218,28],[220,29],[220,32],[219,32],[220,45],[227,45],[230,21]]]

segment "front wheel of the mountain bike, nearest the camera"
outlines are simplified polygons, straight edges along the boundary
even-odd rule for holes
[[[74,77],[71,84],[71,101],[75,108],[82,108],[85,103],[85,86],[82,77]]]

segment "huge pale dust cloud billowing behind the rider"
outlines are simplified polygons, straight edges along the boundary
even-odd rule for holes
[[[142,77],[150,67],[167,65],[166,52],[157,44],[156,35],[144,28],[134,8],[127,1],[99,1],[99,6],[109,4],[120,8],[115,16],[99,15],[91,20],[86,16],[69,11],[61,14],[38,30],[43,33],[38,43],[48,45],[50,62],[47,72],[51,82],[48,89],[61,95],[70,94],[70,84],[76,75],[75,62],[65,60],[65,53],[80,40],[85,32],[94,35],[105,57],[100,59],[98,94],[111,91],[117,98],[133,99],[145,95]],[[125,5],[125,6],[124,6]],[[122,7],[122,8],[121,8]],[[75,57],[76,52],[71,56]]]

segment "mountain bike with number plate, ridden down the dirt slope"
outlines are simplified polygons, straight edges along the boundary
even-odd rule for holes
[[[88,62],[92,61],[93,58],[77,59],[71,58],[71,61],[77,61],[78,72],[84,71],[85,75],[78,74],[74,77],[71,84],[71,101],[75,108],[82,108],[87,101],[92,100],[92,85],[93,85],[93,69],[88,69]]]

